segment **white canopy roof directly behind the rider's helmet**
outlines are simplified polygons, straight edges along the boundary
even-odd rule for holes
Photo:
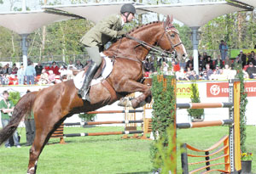
[[[132,3],[136,8],[140,5],[140,3],[133,2],[125,3]],[[91,20],[92,22],[97,23],[99,20],[102,20],[104,17],[110,14],[119,14],[120,8],[125,3],[79,3],[72,5],[43,6],[42,8],[65,11],[70,14],[79,15],[87,20]],[[143,12],[143,9],[137,10],[137,14]]]

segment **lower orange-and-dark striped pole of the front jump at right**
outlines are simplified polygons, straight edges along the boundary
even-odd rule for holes
[[[233,120],[177,123],[177,128],[186,129],[186,128],[205,127],[205,126],[223,126],[223,125],[232,125],[233,123],[234,123]]]

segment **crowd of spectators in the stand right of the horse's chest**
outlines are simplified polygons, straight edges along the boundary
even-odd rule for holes
[[[221,48],[223,50],[220,50],[218,57],[214,60],[207,52],[199,54],[198,74],[194,70],[194,59],[192,56],[189,57],[183,66],[174,60],[170,62],[164,58],[158,59],[156,65],[163,70],[164,74],[175,74],[179,81],[233,79],[236,76],[236,70],[234,69],[236,64],[241,65],[244,78],[256,79],[256,55],[253,51],[246,54],[241,50],[236,59],[231,60],[225,53],[228,48],[225,42],[220,44]],[[223,55],[225,55],[224,59]],[[155,72],[154,64],[149,59],[146,59],[144,64],[145,76],[150,76]],[[169,65],[171,66],[169,67]]]

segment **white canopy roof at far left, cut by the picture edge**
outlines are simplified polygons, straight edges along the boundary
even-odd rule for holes
[[[18,34],[30,34],[43,25],[73,18],[67,14],[49,14],[44,10],[0,13],[0,25]]]

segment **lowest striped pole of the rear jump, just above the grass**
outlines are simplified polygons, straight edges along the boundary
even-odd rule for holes
[[[63,137],[68,138],[68,137],[85,137],[85,136],[101,136],[101,135],[122,135],[122,134],[135,134],[135,133],[143,133],[143,131],[71,133],[71,134],[64,134]]]

